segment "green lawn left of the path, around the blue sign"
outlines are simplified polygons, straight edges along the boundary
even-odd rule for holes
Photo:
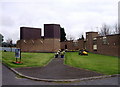
[[[54,57],[53,53],[22,53],[22,65],[16,65],[14,52],[2,52],[2,62],[10,67],[37,67],[46,65]]]

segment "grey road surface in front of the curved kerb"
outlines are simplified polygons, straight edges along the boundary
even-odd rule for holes
[[[120,77],[110,77],[110,78],[102,78],[102,79],[94,79],[94,80],[87,80],[87,81],[78,81],[78,82],[67,82],[67,83],[60,83],[60,82],[44,82],[44,81],[34,81],[26,78],[20,78],[18,75],[16,75],[14,72],[12,72],[10,69],[5,67],[4,65],[2,67],[2,87],[22,87],[26,85],[27,87],[42,87],[42,85],[45,85],[44,87],[57,87],[57,85],[67,85],[69,87],[86,87],[89,85],[90,87],[118,87],[118,78]],[[1,74],[1,73],[0,73]],[[17,86],[16,86],[17,85]],[[19,86],[18,86],[19,85]],[[51,86],[50,86],[51,85]],[[84,86],[85,85],[85,86]],[[87,86],[87,87],[89,87]],[[25,87],[25,86],[24,86]],[[61,87],[61,86],[59,86]]]

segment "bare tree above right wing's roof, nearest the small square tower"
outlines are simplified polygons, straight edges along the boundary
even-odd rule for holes
[[[100,31],[98,31],[100,36],[106,36],[106,35],[110,35],[111,31],[108,25],[103,24],[102,28],[100,28]]]

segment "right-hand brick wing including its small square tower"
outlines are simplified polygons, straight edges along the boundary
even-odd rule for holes
[[[120,34],[99,36],[97,32],[86,33],[86,50],[93,53],[120,56],[119,55],[119,42]],[[95,47],[94,47],[95,46]]]

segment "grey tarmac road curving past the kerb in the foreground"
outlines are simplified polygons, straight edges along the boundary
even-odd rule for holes
[[[120,78],[120,77],[119,77]],[[118,77],[72,82],[72,83],[55,83],[33,81],[25,78],[18,78],[11,70],[2,66],[2,85],[118,85]]]

